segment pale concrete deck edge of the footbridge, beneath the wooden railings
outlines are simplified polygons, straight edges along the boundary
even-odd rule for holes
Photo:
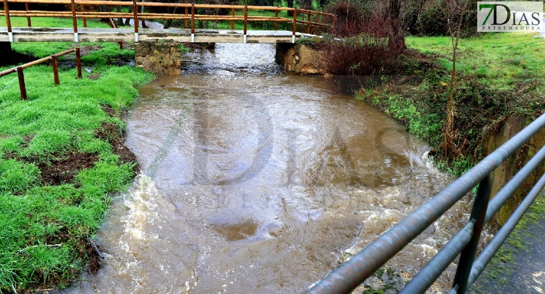
[[[295,33],[295,40],[312,36]],[[292,32],[287,30],[248,30],[244,38],[243,30],[195,29],[140,29],[138,41],[170,39],[178,42],[215,43],[292,43]],[[72,28],[13,28],[14,42],[74,42]],[[118,42],[135,41],[134,28],[78,28],[80,42]],[[8,29],[0,28],[0,42],[9,42]]]

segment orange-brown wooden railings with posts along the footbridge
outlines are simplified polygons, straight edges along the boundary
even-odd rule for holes
[[[130,1],[99,1],[99,0],[3,0],[4,12],[0,16],[6,17],[8,35],[13,42],[13,33],[11,30],[10,17],[26,17],[28,26],[31,27],[31,17],[71,17],[74,28],[74,41],[78,42],[77,18],[82,18],[83,27],[87,26],[87,18],[133,18],[135,42],[138,42],[138,22],[140,20],[185,20],[185,28],[191,28],[191,41],[195,39],[195,21],[230,21],[231,30],[234,31],[235,21],[244,21],[244,42],[246,42],[246,33],[248,22],[270,21],[274,22],[275,30],[278,29],[278,22],[293,23],[292,40],[295,42],[295,33],[297,24],[306,24],[306,33],[310,33],[311,26],[325,27],[334,29],[336,26],[336,15],[313,11],[309,9],[289,8],[289,7],[270,7],[255,5],[221,5],[221,4],[195,4],[195,3],[162,3],[162,2],[137,2]],[[9,3],[25,3],[25,10],[10,10]],[[66,4],[70,5],[71,11],[44,11],[30,10],[29,4]],[[79,6],[79,11],[76,10]],[[128,6],[132,7],[132,12],[101,12],[86,10],[89,5],[110,5],[110,6]],[[164,7],[164,8],[184,8],[183,14],[172,13],[153,13],[138,12],[143,7]],[[203,15],[196,14],[196,9],[231,9],[231,15]],[[235,10],[244,10],[244,15],[235,15]],[[249,10],[269,10],[275,11],[275,16],[249,16]],[[293,18],[279,17],[279,11],[293,11]],[[298,15],[307,15],[306,20],[299,20]],[[311,21],[311,16],[316,15],[317,21]]]

